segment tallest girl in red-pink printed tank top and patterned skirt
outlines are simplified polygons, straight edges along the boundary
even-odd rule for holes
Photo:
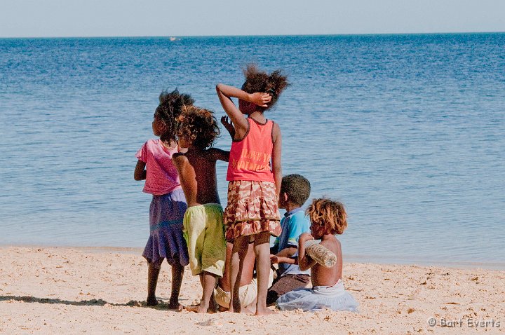
[[[234,243],[229,310],[241,311],[238,299],[241,271],[248,243],[254,242],[258,283],[256,315],[262,315],[272,313],[267,308],[269,242],[270,234],[281,234],[277,203],[282,180],[281,129],[263,113],[277,102],[288,81],[281,71],[267,74],[254,65],[248,66],[244,74],[242,89],[221,83],[216,86],[231,123],[226,118],[222,121],[233,136],[227,173],[228,205],[224,210],[226,238]],[[231,97],[238,98],[238,109]]]

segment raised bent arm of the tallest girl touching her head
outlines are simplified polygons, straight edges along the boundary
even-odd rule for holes
[[[224,111],[231,118],[231,122],[235,125],[235,132],[238,133],[239,136],[245,135],[245,132],[247,132],[248,121],[245,120],[242,112],[239,111],[234,102],[231,101],[231,97],[253,102],[261,107],[267,107],[267,102],[271,100],[271,96],[268,93],[257,92],[249,94],[239,88],[227,86],[222,83],[216,85],[216,92]]]

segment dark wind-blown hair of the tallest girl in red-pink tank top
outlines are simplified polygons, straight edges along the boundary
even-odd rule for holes
[[[258,107],[263,111],[273,107],[279,95],[289,86],[288,77],[281,70],[267,74],[265,71],[260,71],[255,64],[249,64],[243,73],[245,83],[243,83],[242,90],[247,93],[265,92],[271,95],[272,98],[267,104],[268,107]]]

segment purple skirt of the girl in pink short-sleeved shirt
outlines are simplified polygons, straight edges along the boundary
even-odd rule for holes
[[[182,219],[186,209],[182,189],[153,196],[149,207],[151,233],[142,253],[150,264],[159,268],[163,259],[167,259],[170,265],[189,264],[186,241],[182,237]]]

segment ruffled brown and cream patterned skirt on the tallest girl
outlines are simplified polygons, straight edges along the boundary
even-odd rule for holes
[[[229,182],[224,226],[229,241],[264,231],[274,236],[281,235],[275,184],[246,180]]]

